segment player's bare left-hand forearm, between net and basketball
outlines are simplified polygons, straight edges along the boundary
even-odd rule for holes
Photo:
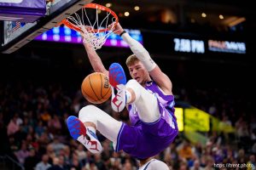
[[[105,66],[102,64],[102,59],[96,54],[94,48],[90,46],[90,44],[84,42],[84,48],[90,60],[90,65],[92,66],[93,70],[96,72],[102,72],[103,74],[108,76],[108,71],[106,70]]]

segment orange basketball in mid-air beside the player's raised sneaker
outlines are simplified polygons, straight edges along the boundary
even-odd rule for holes
[[[84,98],[93,104],[102,104],[111,96],[108,77],[101,72],[94,72],[85,77],[81,91]]]

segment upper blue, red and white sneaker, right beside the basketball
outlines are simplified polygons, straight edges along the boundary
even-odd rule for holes
[[[125,108],[125,84],[126,77],[125,71],[121,65],[118,63],[113,63],[109,67],[109,83],[112,88],[112,98],[111,98],[111,106],[113,111],[120,112]],[[117,93],[114,93],[114,89],[117,90]]]

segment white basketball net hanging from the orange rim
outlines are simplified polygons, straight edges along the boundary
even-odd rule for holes
[[[93,10],[96,13],[93,19],[87,10]],[[80,31],[81,36],[84,37],[84,42],[96,50],[102,48],[107,38],[113,33],[116,18],[108,11],[97,8],[82,8],[79,13],[67,17],[67,21],[75,26],[76,31]]]

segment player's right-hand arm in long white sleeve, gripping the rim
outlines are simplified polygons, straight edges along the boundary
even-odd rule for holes
[[[165,92],[165,94],[172,94],[172,82],[169,77],[166,76],[160,70],[160,67],[154,63],[154,60],[151,59],[148,51],[143,47],[140,42],[137,42],[133,39],[127,32],[124,31],[122,26],[117,24],[114,32],[119,34],[125,42],[128,43],[129,47],[133,54],[143,63],[149,75],[153,78],[154,82]]]

